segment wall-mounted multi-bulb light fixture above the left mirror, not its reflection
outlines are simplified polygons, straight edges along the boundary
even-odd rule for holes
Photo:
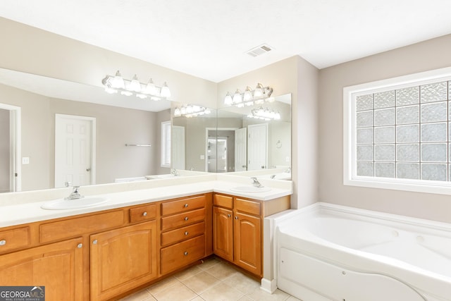
[[[106,75],[106,77],[101,80],[101,83],[105,86],[105,92],[110,94],[118,92],[125,96],[132,96],[135,94],[136,97],[139,97],[140,99],[150,97],[150,99],[155,101],[171,97],[171,90],[169,90],[166,82],[164,82],[162,87],[157,87],[151,78],[147,84],[143,84],[138,80],[136,74],[131,80],[126,80],[122,77],[119,70],[114,76]]]

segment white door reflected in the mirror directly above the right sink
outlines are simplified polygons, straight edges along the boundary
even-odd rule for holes
[[[247,170],[268,168],[268,125],[247,125]]]

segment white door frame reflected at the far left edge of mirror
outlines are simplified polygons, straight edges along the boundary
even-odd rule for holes
[[[22,117],[20,106],[0,104],[9,111],[9,191],[22,191]],[[16,176],[17,175],[17,176]]]

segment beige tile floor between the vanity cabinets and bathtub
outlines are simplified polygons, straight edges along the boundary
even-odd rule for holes
[[[121,301],[300,301],[276,290],[272,295],[260,283],[216,257],[192,266]]]

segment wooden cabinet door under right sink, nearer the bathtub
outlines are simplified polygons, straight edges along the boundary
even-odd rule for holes
[[[261,276],[261,218],[235,212],[235,264]]]

